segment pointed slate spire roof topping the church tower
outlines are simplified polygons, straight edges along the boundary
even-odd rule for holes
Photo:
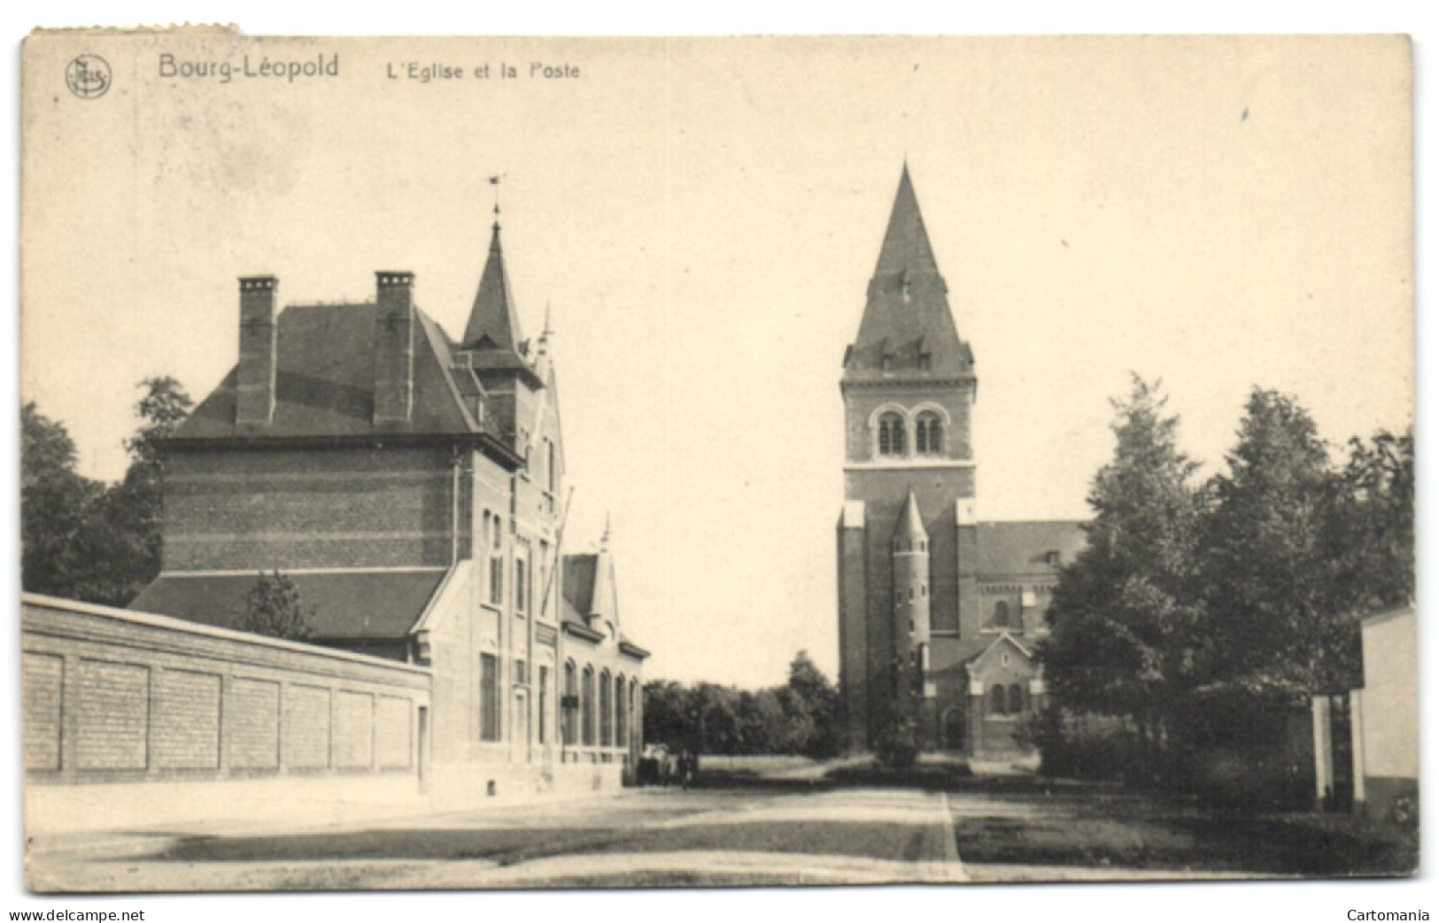
[[[885,368],[885,357],[891,357]],[[921,357],[928,368],[921,369]],[[869,282],[859,335],[845,357],[845,381],[971,375],[974,355],[960,341],[944,277],[924,229],[905,165],[879,262]]]

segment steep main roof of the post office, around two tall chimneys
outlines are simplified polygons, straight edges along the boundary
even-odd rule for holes
[[[456,380],[449,336],[425,312],[416,309],[414,318],[414,404],[409,423],[374,424],[374,303],[291,305],[278,321],[271,426],[236,426],[232,369],[173,438],[484,431],[462,400],[462,390],[473,391],[478,382],[462,385]]]

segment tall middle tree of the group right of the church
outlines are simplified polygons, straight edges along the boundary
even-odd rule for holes
[[[1335,543],[1344,480],[1294,397],[1255,388],[1204,529],[1209,671],[1246,689],[1348,689],[1357,631]]]

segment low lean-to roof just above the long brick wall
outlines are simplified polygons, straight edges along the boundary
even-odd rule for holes
[[[403,638],[429,605],[445,571],[351,571],[291,574],[301,604],[315,608],[309,627],[317,640]],[[127,608],[174,615],[204,625],[240,628],[245,594],[258,574],[184,577],[165,574]]]

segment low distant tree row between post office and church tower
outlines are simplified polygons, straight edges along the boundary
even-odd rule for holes
[[[652,680],[645,683],[645,740],[694,753],[832,756],[837,699],[804,651],[790,663],[789,681],[773,689]]]

